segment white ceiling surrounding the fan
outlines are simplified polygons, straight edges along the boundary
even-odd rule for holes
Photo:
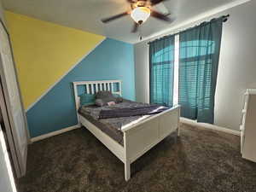
[[[141,27],[144,38],[179,25],[191,17],[211,9],[224,6],[236,0],[169,0],[164,4],[176,18],[172,24],[149,18]],[[15,13],[32,16],[39,20],[48,20],[63,26],[78,28],[115,38],[128,43],[139,41],[138,33],[131,33],[133,21],[125,16],[108,24],[101,19],[130,9],[126,0],[3,0],[3,7]]]

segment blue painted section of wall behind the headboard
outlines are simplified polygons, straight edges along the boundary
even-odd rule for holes
[[[73,81],[120,79],[123,97],[135,100],[134,75],[133,45],[105,39],[26,113],[31,137],[77,125]]]

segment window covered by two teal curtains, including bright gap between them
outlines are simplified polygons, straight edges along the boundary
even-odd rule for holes
[[[155,70],[149,73],[151,103],[180,104],[182,117],[213,123],[223,19],[212,19],[150,43],[149,65]],[[172,49],[163,46],[165,41]],[[163,56],[173,57],[172,61],[166,63]],[[154,96],[159,100],[151,99]]]

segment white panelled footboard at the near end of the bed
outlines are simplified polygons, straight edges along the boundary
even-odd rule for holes
[[[130,165],[173,131],[178,131],[179,106],[123,129],[125,147],[125,180],[131,177]]]

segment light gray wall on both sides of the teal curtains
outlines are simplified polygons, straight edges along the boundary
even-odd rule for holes
[[[251,1],[206,19],[230,14],[223,29],[214,124],[236,131],[239,130],[241,124],[243,93],[247,88],[256,88],[255,8],[256,1]],[[195,23],[192,23],[189,26],[194,25]],[[184,28],[189,26],[184,26]],[[174,32],[169,32],[169,34]],[[136,44],[134,49],[137,102],[149,101],[147,43],[148,41]]]

